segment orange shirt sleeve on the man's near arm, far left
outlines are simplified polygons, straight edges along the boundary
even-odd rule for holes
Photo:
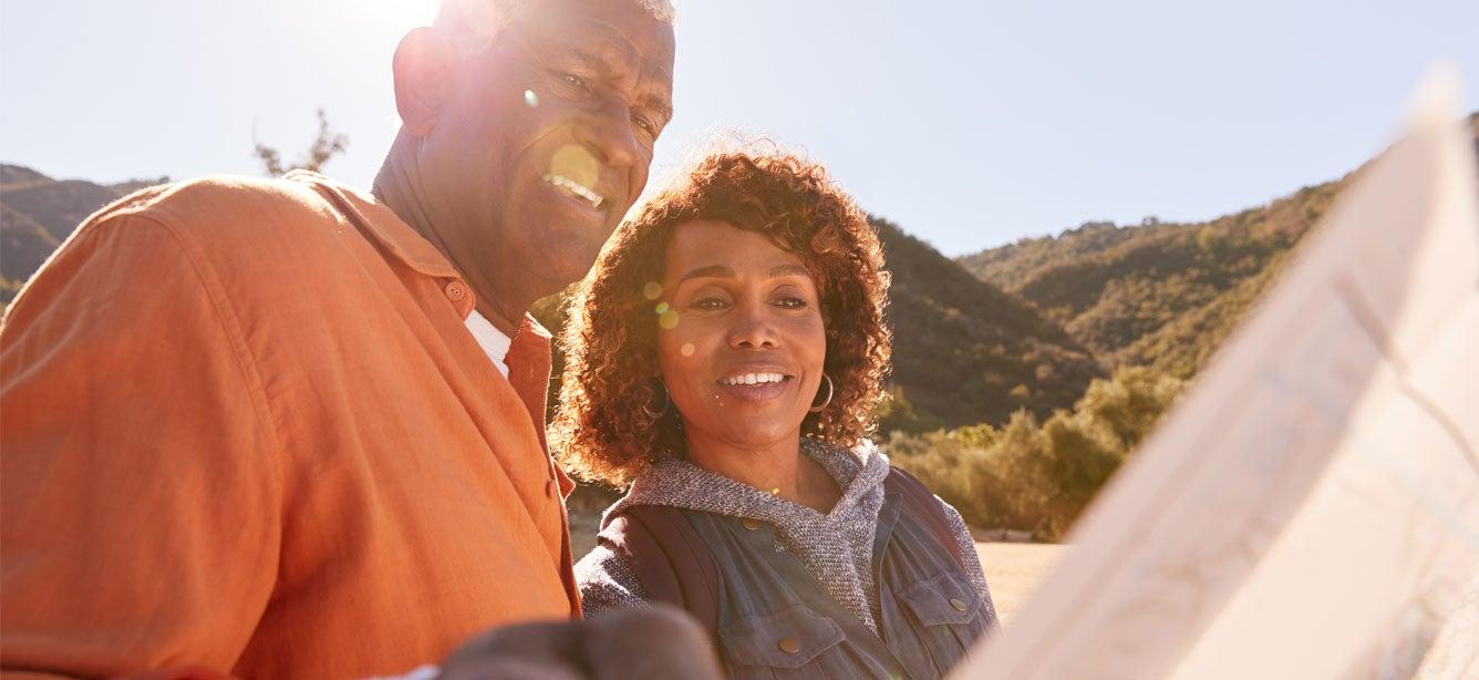
[[[0,325],[7,676],[229,673],[266,609],[278,446],[232,293],[188,235],[95,217]]]

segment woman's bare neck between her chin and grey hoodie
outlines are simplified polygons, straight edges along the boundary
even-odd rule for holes
[[[842,488],[827,470],[802,454],[800,433],[769,445],[737,446],[688,435],[688,461],[714,475],[806,506],[831,511]]]

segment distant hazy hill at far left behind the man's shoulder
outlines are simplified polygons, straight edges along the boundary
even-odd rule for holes
[[[89,214],[145,186],[169,182],[129,180],[99,185],[56,180],[22,166],[0,164],[0,276],[3,302],[46,262]]]

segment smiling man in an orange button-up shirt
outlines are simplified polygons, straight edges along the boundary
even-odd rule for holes
[[[90,217],[0,328],[4,670],[364,677],[578,618],[525,310],[640,194],[671,64],[666,0],[447,0],[374,195],[214,177]],[[515,647],[621,640],[593,627]]]

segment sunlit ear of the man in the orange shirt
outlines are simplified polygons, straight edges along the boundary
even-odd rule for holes
[[[432,132],[453,81],[457,55],[445,33],[422,27],[395,47],[395,108],[405,130],[420,137]]]

